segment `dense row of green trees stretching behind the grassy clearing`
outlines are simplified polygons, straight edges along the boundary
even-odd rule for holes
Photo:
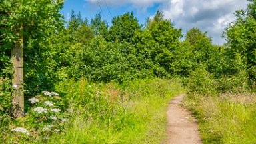
[[[62,6],[55,5],[57,9]],[[89,20],[74,12],[65,27],[63,16],[53,11],[55,15],[48,16],[58,23],[47,24],[43,27],[47,31],[36,29],[35,25],[22,31],[26,95],[54,89],[54,83],[63,79],[81,77],[119,83],[145,77],[183,77],[193,91],[254,89],[255,9],[255,1],[250,0],[246,10],[235,13],[237,19],[223,33],[227,39],[223,46],[213,45],[211,38],[197,28],[183,35],[160,11],[145,25],[139,25],[133,13],[125,13],[114,17],[110,27],[101,14]],[[8,15],[3,9],[0,12]],[[0,73],[1,81],[9,83],[12,35],[5,35],[11,32],[4,31],[8,26],[4,25],[4,18],[0,23]],[[1,89],[11,88],[7,84]],[[4,95],[11,97],[10,93]],[[1,97],[0,101],[6,99]]]

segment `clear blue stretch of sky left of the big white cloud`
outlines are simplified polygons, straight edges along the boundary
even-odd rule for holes
[[[101,5],[101,8],[99,5]],[[137,19],[139,19],[139,23],[144,24],[147,17],[154,15],[158,8],[158,3],[155,3],[151,7],[147,7],[145,10],[140,10],[137,9],[137,7],[134,7],[134,5],[131,3],[127,3],[125,5],[109,5],[107,4],[107,1],[99,1],[98,4],[90,3],[89,1],[85,0],[66,0],[61,13],[65,16],[66,21],[68,21],[72,9],[75,11],[75,13],[81,12],[82,17],[88,17],[89,20],[93,18],[95,14],[101,13],[102,19],[107,20],[109,25],[111,25],[112,17],[133,11]]]

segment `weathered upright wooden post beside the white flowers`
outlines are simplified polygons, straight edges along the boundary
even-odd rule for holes
[[[24,92],[23,92],[23,37],[15,43],[11,51],[13,63],[13,117],[24,116]]]

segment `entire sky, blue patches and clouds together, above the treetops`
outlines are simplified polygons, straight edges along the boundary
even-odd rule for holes
[[[61,13],[66,21],[72,9],[89,19],[101,13],[111,25],[112,17],[133,11],[139,23],[144,24],[147,17],[152,17],[159,9],[165,19],[171,19],[175,27],[183,29],[183,33],[198,27],[207,31],[213,43],[222,45],[225,39],[221,34],[235,20],[233,13],[237,9],[245,9],[247,3],[246,0],[65,0]]]

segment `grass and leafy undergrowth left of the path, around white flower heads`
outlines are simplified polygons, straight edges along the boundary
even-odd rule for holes
[[[9,119],[1,141],[17,143],[160,143],[165,139],[167,105],[183,92],[181,83],[173,79],[143,79],[119,85],[89,83],[85,79],[59,82],[55,90],[61,96],[61,113],[57,123],[50,114],[31,114],[18,121]],[[36,98],[42,98],[38,95]],[[51,98],[53,99],[53,98]],[[54,100],[54,99],[53,99]],[[53,101],[53,104],[58,104]],[[43,104],[35,104],[37,107]],[[39,116],[40,115],[40,116]],[[35,123],[39,121],[39,125]],[[45,123],[44,123],[45,122]],[[16,124],[17,124],[16,123]],[[55,123],[50,131],[44,125]],[[25,127],[30,135],[11,131]],[[55,129],[60,131],[55,131]],[[8,135],[8,137],[3,137]],[[11,139],[11,141],[9,141]]]

